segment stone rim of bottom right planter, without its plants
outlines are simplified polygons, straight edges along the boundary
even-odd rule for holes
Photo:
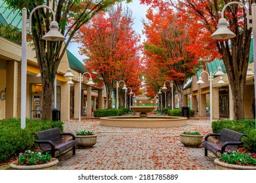
[[[215,169],[216,170],[256,170],[256,166],[241,166],[241,165],[233,165],[229,163],[224,163],[223,161],[219,161],[219,158],[214,159]]]

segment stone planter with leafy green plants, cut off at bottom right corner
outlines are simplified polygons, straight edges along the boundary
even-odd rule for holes
[[[217,170],[256,170],[256,159],[236,151],[223,153],[214,163]]]

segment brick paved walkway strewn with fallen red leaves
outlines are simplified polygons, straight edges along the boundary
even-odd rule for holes
[[[189,148],[179,141],[183,131],[211,133],[210,120],[188,120],[185,127],[138,129],[104,127],[100,120],[71,120],[64,131],[75,133],[89,129],[98,133],[94,148],[79,149],[72,156],[67,152],[58,158],[58,169],[96,170],[156,170],[156,169],[215,169],[213,156],[204,157],[204,148]]]

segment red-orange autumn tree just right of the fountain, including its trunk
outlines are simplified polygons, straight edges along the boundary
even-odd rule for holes
[[[148,93],[156,93],[165,80],[174,81],[181,107],[183,86],[198,67],[204,52],[200,45],[203,42],[193,39],[187,29],[188,19],[174,13],[168,3],[158,2],[151,6],[147,20],[144,22],[147,36],[144,54]]]

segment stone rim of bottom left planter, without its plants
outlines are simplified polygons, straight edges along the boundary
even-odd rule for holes
[[[14,161],[10,163],[10,167],[14,170],[56,170],[59,160],[57,158],[53,159],[54,161],[42,165],[16,165],[17,161]]]

